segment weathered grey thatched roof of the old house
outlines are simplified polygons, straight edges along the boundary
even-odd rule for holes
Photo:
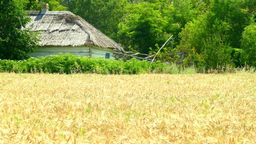
[[[32,31],[42,31],[40,46],[95,45],[101,48],[124,49],[101,31],[69,11],[26,11],[31,21],[26,25]]]

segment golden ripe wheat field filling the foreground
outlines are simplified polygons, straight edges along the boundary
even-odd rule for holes
[[[256,143],[256,74],[0,73],[0,143]]]

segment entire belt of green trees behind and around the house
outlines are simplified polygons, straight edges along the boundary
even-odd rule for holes
[[[81,16],[128,51],[155,53],[174,35],[158,55],[162,62],[206,70],[256,64],[255,0],[0,0],[0,29],[24,19],[22,8],[40,10],[41,3]],[[25,59],[33,51],[34,35],[20,31],[28,21],[1,30],[0,58]]]

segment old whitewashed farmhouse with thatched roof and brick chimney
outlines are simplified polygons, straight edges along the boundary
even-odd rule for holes
[[[48,4],[42,4],[41,11],[26,11],[31,18],[26,28],[41,31],[40,47],[36,52],[30,53],[30,56],[68,52],[81,56],[116,58],[113,51],[124,52],[121,45],[79,16],[69,11],[48,11],[48,7]]]

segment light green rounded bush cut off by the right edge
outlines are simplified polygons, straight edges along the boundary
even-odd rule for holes
[[[251,24],[245,28],[241,40],[243,49],[241,60],[250,66],[256,67],[256,25]]]

